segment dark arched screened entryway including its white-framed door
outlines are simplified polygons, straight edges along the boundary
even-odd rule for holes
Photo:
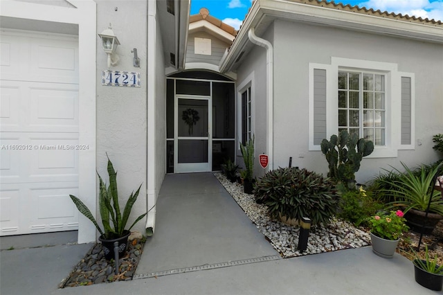
[[[217,73],[167,78],[168,173],[210,172],[235,159],[235,84]]]

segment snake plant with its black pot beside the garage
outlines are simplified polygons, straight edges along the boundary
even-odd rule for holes
[[[73,195],[69,195],[75,206],[77,206],[78,211],[87,217],[96,226],[97,230],[100,232],[100,237],[98,240],[102,242],[103,252],[105,253],[105,258],[107,260],[114,259],[114,242],[118,242],[118,253],[125,253],[127,249],[127,239],[131,234],[130,230],[132,227],[147,213],[144,213],[137,217],[132,226],[129,229],[125,229],[127,220],[132,211],[132,206],[137,200],[138,193],[140,192],[141,185],[138,187],[136,192],[132,192],[127,199],[125,209],[123,210],[123,215],[120,212],[120,205],[118,204],[118,190],[117,190],[117,172],[112,166],[111,160],[108,157],[109,174],[109,186],[103,182],[102,177],[97,173],[98,179],[100,181],[100,191],[98,195],[98,204],[100,208],[100,215],[102,217],[103,230],[100,229],[96,219],[93,217],[89,208],[78,198]],[[112,222],[112,226],[111,226]]]

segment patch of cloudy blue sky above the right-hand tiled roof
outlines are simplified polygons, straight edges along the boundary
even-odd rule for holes
[[[368,0],[359,6],[415,17],[443,20],[443,0]]]

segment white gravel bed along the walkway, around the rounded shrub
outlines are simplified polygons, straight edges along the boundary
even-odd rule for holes
[[[284,258],[370,245],[369,233],[356,229],[349,222],[333,217],[326,226],[313,226],[311,228],[307,250],[300,253],[297,250],[300,231],[298,226],[289,226],[280,221],[271,220],[266,213],[266,205],[255,203],[253,195],[243,193],[242,185],[237,184],[237,182],[231,183],[219,172],[214,173],[214,175],[257,226],[257,229]]]

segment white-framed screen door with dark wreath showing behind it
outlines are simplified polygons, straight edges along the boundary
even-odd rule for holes
[[[175,172],[211,171],[210,96],[176,96],[174,105]]]

